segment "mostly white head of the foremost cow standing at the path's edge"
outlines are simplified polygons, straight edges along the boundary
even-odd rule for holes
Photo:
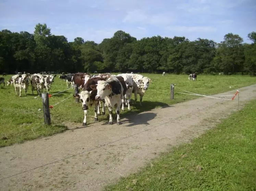
[[[111,93],[111,85],[104,80],[99,80],[98,84],[90,85],[90,88],[97,90],[97,95],[95,100],[104,99],[107,95]]]

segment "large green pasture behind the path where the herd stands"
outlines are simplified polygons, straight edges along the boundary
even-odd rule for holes
[[[133,108],[132,111],[127,111],[125,107],[124,113],[121,112],[121,120],[123,116],[134,112],[143,112],[156,107],[161,107],[166,104],[179,103],[198,97],[185,94],[174,94],[174,100],[170,100],[170,84],[176,84],[176,87],[199,94],[215,94],[220,92],[237,89],[243,86],[252,85],[256,83],[255,77],[249,76],[204,76],[198,75],[197,81],[192,82],[188,80],[188,75],[171,75],[166,74],[143,74],[153,79],[149,89],[146,91],[143,98],[143,106]],[[9,80],[11,75],[5,77],[5,82]],[[50,93],[57,93],[66,89],[66,83],[60,81],[59,75],[54,79]],[[231,88],[230,88],[231,87]],[[180,90],[175,89],[175,92]],[[54,105],[59,101],[69,97],[74,92],[73,89],[59,93],[49,98],[50,105]],[[35,93],[35,92],[34,92]],[[42,136],[49,136],[54,133],[60,133],[67,128],[63,122],[76,122],[82,125],[84,113],[82,111],[81,103],[76,104],[73,97],[61,102],[50,109],[51,126],[44,125],[44,116],[39,108],[42,109],[42,100],[37,96],[37,93],[32,95],[31,86],[29,86],[27,96],[18,97],[15,94],[14,87],[5,85],[0,86],[0,146],[7,146],[13,143],[21,143],[25,140],[34,139]],[[36,98],[35,98],[36,97]],[[134,99],[134,95],[132,97]],[[139,100],[139,97],[138,97]],[[94,123],[94,109],[89,109],[87,124]],[[99,116],[99,120],[108,120],[108,111],[105,116]],[[114,123],[113,125],[116,125]]]

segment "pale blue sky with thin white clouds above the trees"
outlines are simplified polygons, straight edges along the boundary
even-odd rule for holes
[[[34,32],[46,23],[68,41],[100,43],[117,30],[136,37],[185,36],[220,42],[229,32],[251,43],[256,0],[0,0],[0,30]]]

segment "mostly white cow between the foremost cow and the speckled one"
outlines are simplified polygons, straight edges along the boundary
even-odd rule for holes
[[[122,99],[122,111],[124,111],[124,104],[128,106],[128,111],[131,111],[130,102],[131,102],[132,91],[133,91],[133,80],[131,76],[127,74],[118,74],[117,76],[122,76],[124,78],[124,81],[127,87],[125,97],[124,99]]]

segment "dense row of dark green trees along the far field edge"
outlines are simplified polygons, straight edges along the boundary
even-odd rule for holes
[[[100,44],[77,37],[51,34],[38,23],[33,34],[0,32],[0,72],[144,72],[175,74],[206,73],[256,74],[256,32],[248,34],[251,44],[237,34],[228,33],[223,41],[184,36],[152,36],[137,40],[119,30]]]

